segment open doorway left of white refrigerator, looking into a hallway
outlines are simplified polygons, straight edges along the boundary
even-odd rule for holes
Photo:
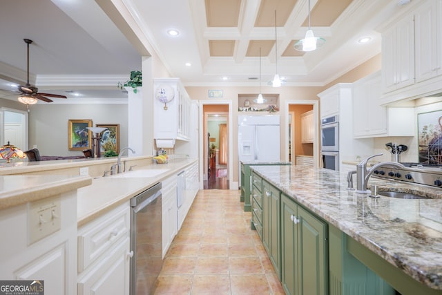
[[[202,189],[230,189],[231,106],[202,102]]]

